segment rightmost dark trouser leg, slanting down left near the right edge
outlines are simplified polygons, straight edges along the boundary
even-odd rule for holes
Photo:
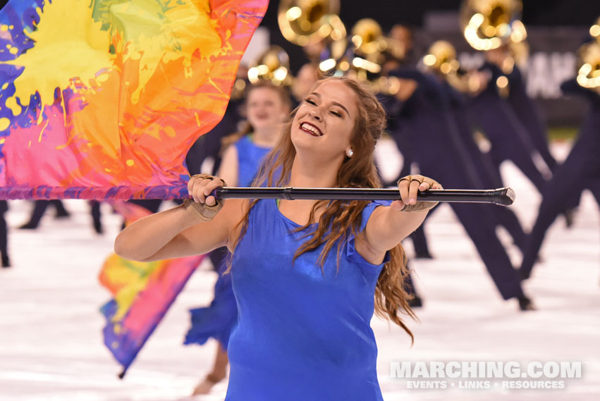
[[[529,234],[527,247],[523,254],[520,271],[523,278],[531,275],[539,249],[544,242],[546,230],[554,222],[556,216],[565,210],[571,199],[574,196],[579,197],[584,188],[589,185],[590,180],[593,180],[589,175],[590,159],[586,148],[587,144],[582,141],[575,143],[563,165],[556,168],[551,183],[543,192],[537,219]]]

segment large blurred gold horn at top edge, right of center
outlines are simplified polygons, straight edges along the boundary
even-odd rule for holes
[[[476,50],[498,49],[508,42],[525,40],[527,31],[520,21],[521,0],[463,0],[460,27]]]

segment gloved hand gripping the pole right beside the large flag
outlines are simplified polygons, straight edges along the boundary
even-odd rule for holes
[[[216,188],[224,187],[226,183],[219,177],[208,174],[192,175],[188,182],[188,193],[190,198],[185,199],[185,209],[194,210],[196,218],[200,221],[211,221],[221,210],[225,200],[215,199],[210,195]]]

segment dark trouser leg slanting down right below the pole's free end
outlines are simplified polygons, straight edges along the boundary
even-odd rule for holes
[[[451,206],[477,248],[503,299],[522,296],[518,272],[513,268],[506,249],[496,236],[494,221],[489,218],[486,205],[452,203]]]

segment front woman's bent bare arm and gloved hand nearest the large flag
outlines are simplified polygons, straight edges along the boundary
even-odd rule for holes
[[[214,205],[207,195],[222,186],[218,178],[192,177],[188,191],[194,202]],[[244,216],[247,202],[231,199],[214,218],[205,218],[192,203],[135,221],[116,237],[115,252],[125,259],[154,261],[186,257],[233,243],[233,229]]]

